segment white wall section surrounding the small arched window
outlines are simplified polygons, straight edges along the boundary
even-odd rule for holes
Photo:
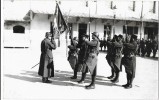
[[[13,27],[21,25],[25,27],[25,33],[13,33]],[[29,47],[30,31],[28,22],[7,21],[4,23],[3,46],[4,47]]]

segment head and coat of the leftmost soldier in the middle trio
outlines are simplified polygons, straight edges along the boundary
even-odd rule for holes
[[[67,60],[69,61],[71,68],[74,70],[75,65],[77,64],[77,59],[78,59],[78,54],[77,54],[77,46],[78,41],[77,37],[74,37],[72,40],[72,44],[68,46],[69,52],[68,52],[68,58]]]

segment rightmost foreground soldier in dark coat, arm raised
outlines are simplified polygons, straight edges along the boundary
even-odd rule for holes
[[[136,50],[137,50],[137,36],[132,35],[130,43],[124,43],[125,52],[124,57],[122,58],[122,65],[125,66],[125,71],[127,75],[127,84],[122,85],[124,88],[132,88],[132,82],[135,78],[136,72]]]

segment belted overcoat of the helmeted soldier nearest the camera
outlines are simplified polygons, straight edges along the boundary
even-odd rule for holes
[[[92,41],[86,41],[86,44],[89,46],[86,65],[88,66],[91,75],[93,75],[93,72],[97,67],[100,42],[98,39],[94,39]]]

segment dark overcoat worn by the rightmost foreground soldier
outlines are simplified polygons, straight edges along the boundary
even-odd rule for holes
[[[125,43],[125,53],[124,57],[122,58],[122,65],[125,66],[125,71],[128,74],[131,74],[132,77],[135,77],[136,72],[136,49],[137,49],[137,42]]]

